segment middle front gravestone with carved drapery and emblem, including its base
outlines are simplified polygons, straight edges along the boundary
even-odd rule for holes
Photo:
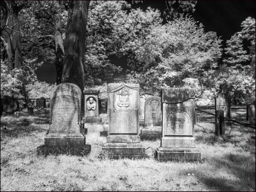
[[[108,137],[102,153],[110,158],[145,157],[139,137],[139,85],[108,84]]]

